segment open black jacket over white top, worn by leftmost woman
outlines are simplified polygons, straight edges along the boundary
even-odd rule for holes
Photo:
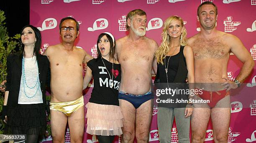
[[[47,56],[39,55],[37,59],[39,81],[41,85],[43,103],[46,102],[45,87],[50,87],[50,64]],[[20,79],[22,74],[22,54],[21,51],[10,54],[7,57],[7,77],[6,91],[9,91],[7,106],[18,105],[20,92]]]

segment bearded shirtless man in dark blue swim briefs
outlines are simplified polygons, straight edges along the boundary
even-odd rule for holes
[[[122,78],[119,88],[119,105],[123,113],[122,143],[147,143],[149,137],[153,94],[151,69],[156,41],[147,38],[146,13],[132,10],[126,17],[129,35],[116,41],[116,53],[121,64]]]

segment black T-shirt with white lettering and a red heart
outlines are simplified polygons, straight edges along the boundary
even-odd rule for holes
[[[104,66],[102,60],[104,61],[106,67]],[[113,64],[114,69],[112,69],[112,63],[103,58],[99,58],[90,60],[87,63],[87,66],[92,70],[92,76],[94,79],[94,86],[89,102],[119,106],[118,89],[121,81],[120,64]],[[113,82],[111,80],[112,75]],[[110,87],[111,83],[113,83],[113,88]]]

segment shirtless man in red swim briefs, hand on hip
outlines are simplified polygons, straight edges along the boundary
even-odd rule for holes
[[[203,87],[203,93],[199,97],[211,101],[205,105],[194,104],[191,118],[192,143],[204,142],[210,116],[215,143],[227,143],[230,121],[229,90],[236,89],[254,66],[251,54],[236,36],[216,30],[217,17],[217,7],[213,3],[202,3],[197,9],[201,32],[189,38],[189,45],[194,52],[195,82],[204,83],[200,87],[197,86],[201,89]],[[235,82],[227,77],[230,52],[243,62]]]

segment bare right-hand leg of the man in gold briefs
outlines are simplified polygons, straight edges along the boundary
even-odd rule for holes
[[[82,143],[84,135],[84,106],[68,117],[71,143]]]

